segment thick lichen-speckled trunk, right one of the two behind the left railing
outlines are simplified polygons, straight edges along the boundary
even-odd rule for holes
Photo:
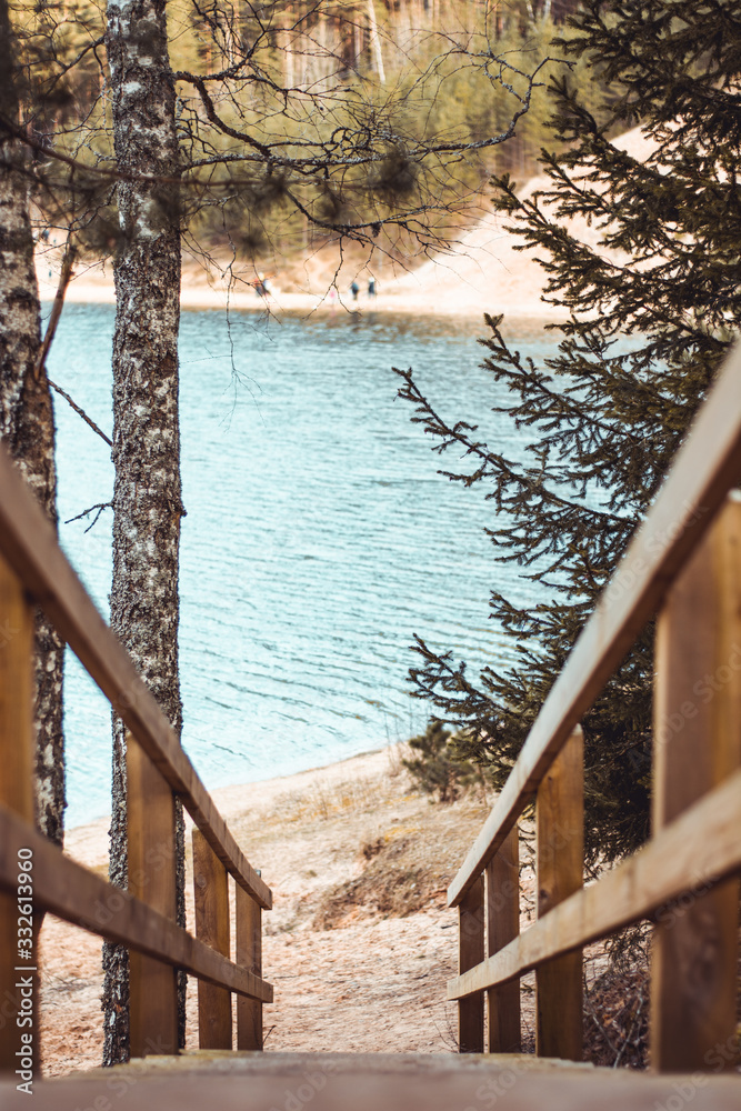
[[[178,176],[174,88],[163,0],[112,0],[107,48],[120,170]],[[111,624],[173,729],[182,708],[178,674],[180,431],[178,326],[180,232],[171,184],[120,183],[122,240],[114,263],[113,583]],[[110,877],[127,882],[124,738],[113,721]],[[184,923],[182,814],[179,915]],[[128,1058],[128,954],[104,947],[104,1063]],[[184,989],[184,978],[181,989]],[[181,1040],[184,993],[181,990]]]

